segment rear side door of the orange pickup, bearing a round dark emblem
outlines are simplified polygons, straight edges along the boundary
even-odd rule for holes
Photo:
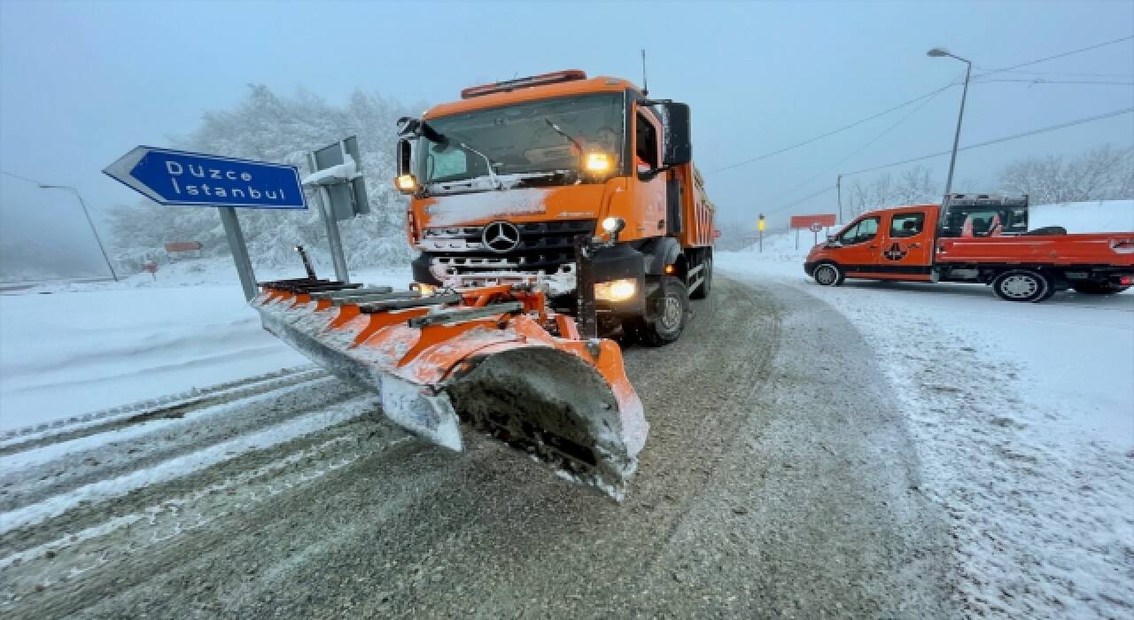
[[[874,264],[887,279],[929,279],[933,261],[933,227],[925,210],[894,211],[883,215]],[[932,222],[930,222],[932,223]]]

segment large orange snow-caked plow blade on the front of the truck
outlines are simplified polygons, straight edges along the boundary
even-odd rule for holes
[[[432,296],[325,280],[261,284],[264,329],[379,392],[399,426],[451,450],[459,424],[621,500],[648,424],[610,340],[581,340],[541,292],[507,284]]]

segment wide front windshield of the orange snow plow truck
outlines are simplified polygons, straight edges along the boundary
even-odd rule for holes
[[[492,160],[497,175],[576,171],[583,148],[615,158],[618,169],[623,145],[623,94],[603,93],[549,99],[490,110],[429,119],[430,126],[452,142],[465,143]],[[550,121],[550,122],[549,122]],[[484,158],[420,138],[417,178],[423,182],[456,181],[486,176]]]

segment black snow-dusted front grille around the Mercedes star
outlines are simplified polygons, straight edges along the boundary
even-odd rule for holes
[[[575,237],[594,235],[594,220],[515,223],[519,244],[503,253],[484,246],[481,226],[428,228],[420,245],[434,265],[457,273],[516,270],[553,274],[575,262]]]

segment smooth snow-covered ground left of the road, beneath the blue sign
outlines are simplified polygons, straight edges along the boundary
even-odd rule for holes
[[[411,281],[408,270],[352,278]],[[307,363],[261,329],[229,260],[0,294],[0,432]]]

